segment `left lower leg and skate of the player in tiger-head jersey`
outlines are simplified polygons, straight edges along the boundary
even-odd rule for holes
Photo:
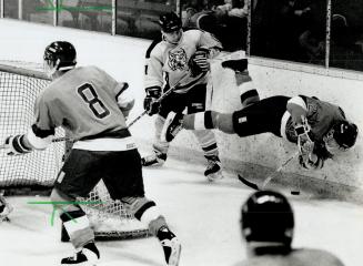
[[[141,158],[142,166],[161,166],[168,157],[169,143],[160,141],[161,130],[164,125],[165,119],[158,115],[155,119],[155,139],[152,145],[153,153]]]

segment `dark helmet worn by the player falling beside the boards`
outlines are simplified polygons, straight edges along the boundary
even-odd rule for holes
[[[347,121],[340,121],[333,125],[333,137],[336,143],[347,150],[355,144],[357,136],[357,126]]]

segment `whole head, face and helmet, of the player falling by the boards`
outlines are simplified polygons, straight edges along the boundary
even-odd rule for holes
[[[349,121],[340,121],[324,136],[326,150],[331,154],[351,149],[357,137],[357,126]]]

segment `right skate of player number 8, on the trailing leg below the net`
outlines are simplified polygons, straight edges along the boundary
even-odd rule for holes
[[[167,227],[158,232],[158,238],[164,250],[165,262],[169,266],[178,266],[181,253],[181,244],[177,236]]]

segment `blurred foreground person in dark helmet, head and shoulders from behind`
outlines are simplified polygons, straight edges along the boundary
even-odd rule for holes
[[[253,193],[241,209],[241,233],[248,258],[234,266],[344,266],[333,254],[316,248],[293,248],[294,214],[282,194]]]

